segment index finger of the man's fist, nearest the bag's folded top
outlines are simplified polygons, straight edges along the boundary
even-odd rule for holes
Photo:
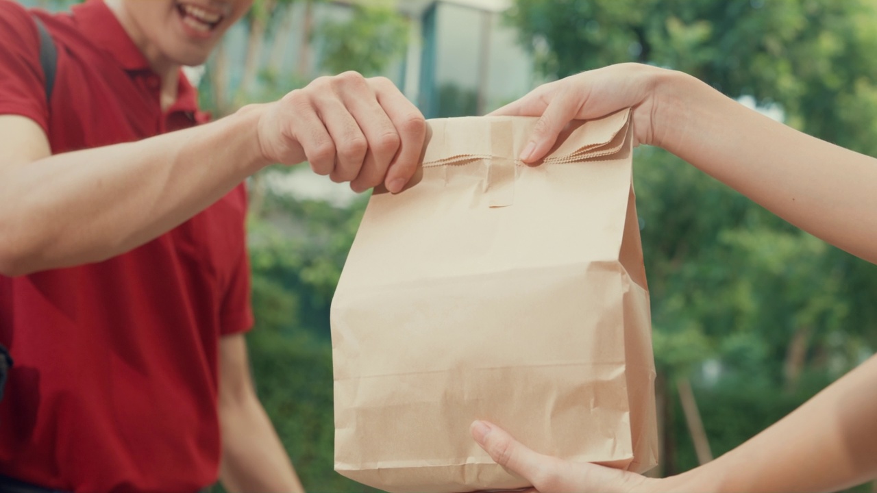
[[[417,170],[420,154],[426,139],[426,120],[393,82],[389,79],[376,77],[370,80],[378,97],[381,108],[387,112],[398,132],[398,150],[396,157],[389,164],[384,183],[390,192],[397,193],[409,182]]]

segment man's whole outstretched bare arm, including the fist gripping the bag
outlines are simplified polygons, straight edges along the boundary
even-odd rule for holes
[[[310,161],[362,191],[402,189],[426,125],[387,79],[321,77],[271,104],[151,139],[49,154],[29,118],[0,116],[0,274],[102,261],[202,211],[270,163]]]

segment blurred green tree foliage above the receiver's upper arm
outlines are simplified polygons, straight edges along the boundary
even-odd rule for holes
[[[675,68],[877,155],[875,14],[871,0],[518,0],[508,18],[546,75],[622,61]]]

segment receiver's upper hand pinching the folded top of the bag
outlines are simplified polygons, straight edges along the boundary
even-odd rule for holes
[[[541,117],[521,153],[524,162],[544,157],[571,120],[600,118],[624,108],[633,109],[634,145],[660,145],[655,115],[661,98],[655,89],[662,77],[672,74],[638,63],[588,70],[539,86],[491,114]]]

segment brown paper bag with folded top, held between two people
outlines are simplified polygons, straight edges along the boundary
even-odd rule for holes
[[[389,491],[528,484],[469,435],[656,463],[654,363],[629,111],[538,166],[535,118],[430,120],[417,182],[368,203],[332,301],[335,469]]]

